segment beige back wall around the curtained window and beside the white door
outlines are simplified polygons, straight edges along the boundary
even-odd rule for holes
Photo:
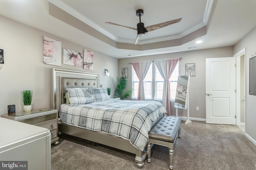
[[[132,88],[132,65],[128,63],[143,62],[143,61],[157,61],[166,59],[179,59],[180,61],[180,75],[185,75],[185,64],[195,63],[196,64],[196,76],[190,78],[190,96],[189,96],[189,111],[190,117],[205,119],[205,59],[214,57],[232,57],[232,47],[221,47],[205,50],[188,51],[181,53],[170,53],[162,55],[151,55],[144,57],[132,57],[127,59],[119,59],[118,61],[118,75],[121,76],[121,69],[128,68],[128,86],[127,89]],[[173,106],[173,103],[172,105]],[[196,111],[196,106],[199,107],[199,111]],[[172,107],[172,115],[176,114],[176,109]],[[187,110],[179,109],[179,116],[186,117]]]

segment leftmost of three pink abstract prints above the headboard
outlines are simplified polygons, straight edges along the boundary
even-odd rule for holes
[[[61,66],[61,42],[44,36],[44,64]]]

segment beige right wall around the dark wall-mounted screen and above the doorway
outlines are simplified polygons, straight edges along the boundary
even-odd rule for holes
[[[246,72],[246,94],[245,94],[245,133],[249,139],[256,144],[256,96],[249,95],[249,59],[255,56],[256,27],[252,29],[244,38],[234,45],[234,54],[246,48],[245,72]]]

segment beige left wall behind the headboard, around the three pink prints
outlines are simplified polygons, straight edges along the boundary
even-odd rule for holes
[[[81,45],[56,37],[39,29],[0,16],[0,49],[4,49],[4,64],[0,64],[0,115],[7,113],[7,106],[16,105],[16,112],[23,111],[22,90],[34,90],[32,109],[50,107],[52,67],[100,74],[103,87],[116,84],[118,59],[93,51]],[[62,64],[53,66],[43,63],[43,36],[62,42],[62,47],[83,53],[94,53],[94,70]],[[86,40],[84,40],[86,41]],[[110,76],[104,76],[104,68]]]

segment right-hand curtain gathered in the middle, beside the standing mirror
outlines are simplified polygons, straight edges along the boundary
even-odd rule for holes
[[[162,104],[168,115],[171,115],[171,105],[170,105],[170,83],[169,79],[175,66],[178,64],[179,59],[166,60],[166,61],[155,61],[156,67],[158,68],[162,78],[164,78],[164,89]]]

